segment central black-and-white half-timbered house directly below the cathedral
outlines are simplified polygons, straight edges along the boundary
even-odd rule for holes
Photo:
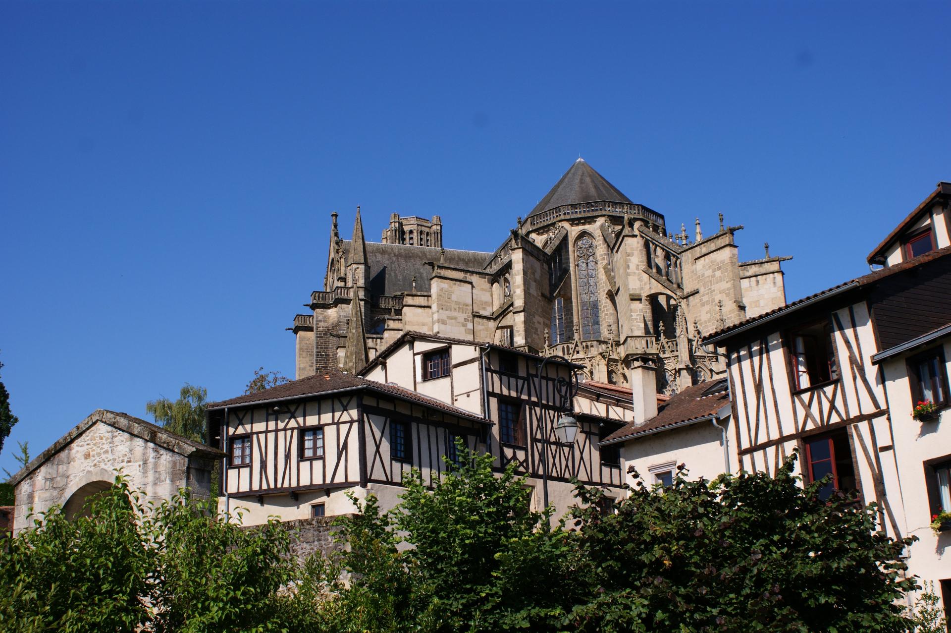
[[[533,506],[564,511],[576,478],[619,494],[617,451],[600,441],[631,421],[630,390],[575,386],[578,367],[505,346],[407,332],[362,375],[328,370],[208,406],[228,458],[222,503],[245,524],[353,510],[348,493],[392,507],[416,467],[432,483],[456,440],[529,475]],[[604,386],[611,387],[611,386]],[[554,428],[572,412],[573,443]]]

